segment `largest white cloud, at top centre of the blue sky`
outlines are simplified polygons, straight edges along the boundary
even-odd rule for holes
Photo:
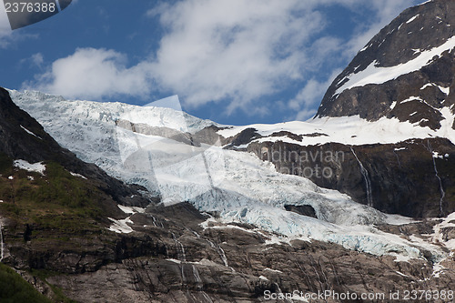
[[[324,25],[289,0],[188,0],[164,11],[154,75],[187,105],[230,100],[230,112],[303,76],[306,43]],[[311,20],[311,22],[308,22]]]

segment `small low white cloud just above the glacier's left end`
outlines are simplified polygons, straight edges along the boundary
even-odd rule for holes
[[[38,58],[39,59],[39,58]],[[99,99],[127,94],[145,96],[150,90],[147,63],[126,67],[126,56],[113,50],[78,48],[56,60],[49,71],[24,88],[56,95]]]

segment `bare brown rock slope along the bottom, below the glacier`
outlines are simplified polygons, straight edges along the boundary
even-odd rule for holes
[[[134,232],[71,237],[71,248],[38,233],[26,245],[10,247],[10,264],[36,286],[48,283],[78,302],[280,302],[268,298],[296,291],[316,298],[312,302],[343,301],[318,297],[325,291],[367,293],[379,296],[372,302],[383,302],[391,291],[447,290],[455,279],[452,260],[435,270],[431,262],[375,257],[319,241],[280,243],[250,226],[213,220],[201,227],[207,217],[189,204],[148,207],[130,218]],[[382,228],[410,237],[436,223]],[[5,234],[15,236],[8,229]]]

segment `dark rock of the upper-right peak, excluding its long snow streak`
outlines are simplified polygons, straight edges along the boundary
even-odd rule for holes
[[[317,116],[359,115],[372,121],[382,116],[397,117],[400,121],[419,122],[420,126],[438,129],[443,118],[440,109],[455,103],[454,49],[433,57],[420,70],[406,72],[385,83],[339,89],[349,77],[368,66],[406,64],[423,52],[443,45],[453,35],[454,1],[435,0],[405,10],[375,35],[337,76]]]

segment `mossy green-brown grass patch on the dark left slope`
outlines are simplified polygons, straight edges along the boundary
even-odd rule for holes
[[[106,195],[89,181],[72,176],[56,162],[45,163],[45,176],[13,167],[13,161],[0,155],[0,213],[17,225],[39,229],[65,229],[86,233],[100,227],[102,201]]]

